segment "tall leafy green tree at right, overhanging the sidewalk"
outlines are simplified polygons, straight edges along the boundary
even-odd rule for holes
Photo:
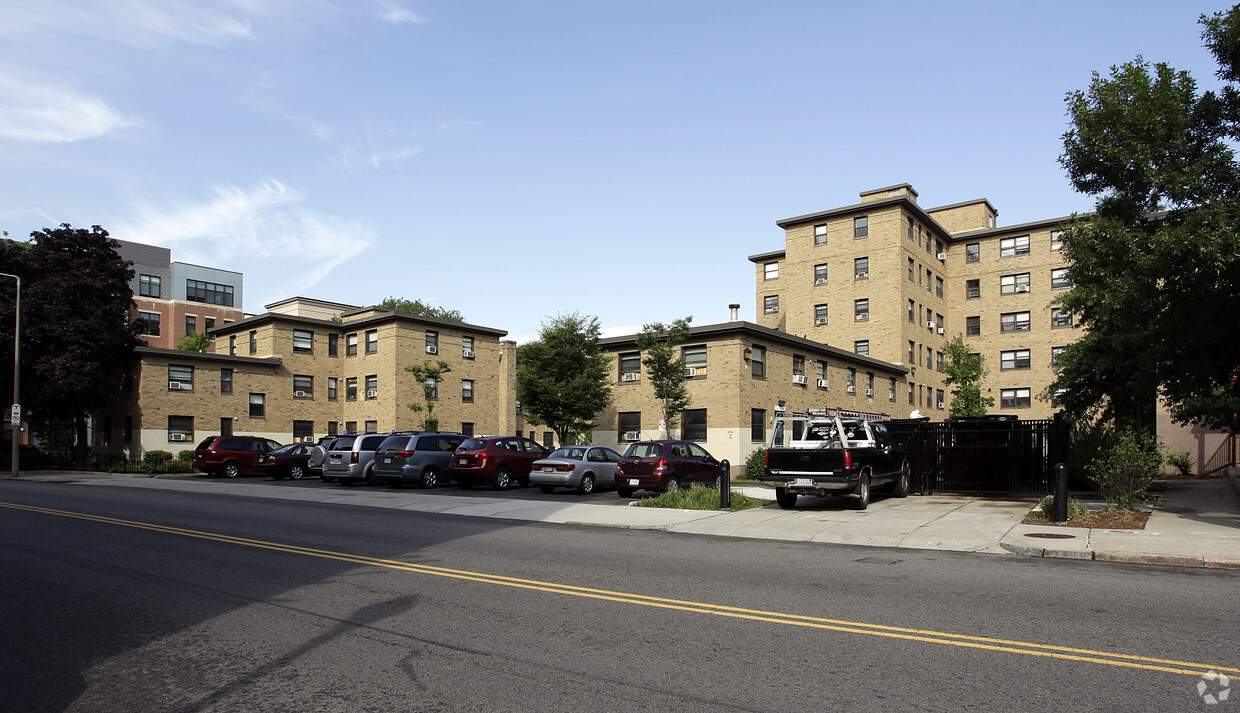
[[[1096,212],[1065,232],[1058,303],[1089,334],[1042,396],[1138,432],[1159,394],[1182,423],[1240,425],[1240,6],[1200,22],[1220,92],[1137,57],[1066,99],[1060,164]]]

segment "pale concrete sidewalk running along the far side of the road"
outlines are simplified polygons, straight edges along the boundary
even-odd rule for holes
[[[304,502],[386,507],[525,522],[553,522],[662,529],[722,537],[796,542],[985,552],[1066,559],[1240,569],[1240,492],[1234,480],[1172,480],[1153,503],[1143,531],[1086,529],[1022,525],[1032,500],[965,495],[910,496],[875,494],[869,508],[851,508],[849,498],[802,497],[795,510],[777,506],[719,512],[616,507],[591,503],[611,492],[565,502],[529,490],[506,497],[440,497],[420,490],[352,487],[255,487],[202,476],[136,476],[41,471],[16,481],[73,482],[99,487],[146,487],[185,492],[222,492]],[[734,491],[765,500],[761,485],[734,484]],[[1049,536],[1049,537],[1048,537]]]

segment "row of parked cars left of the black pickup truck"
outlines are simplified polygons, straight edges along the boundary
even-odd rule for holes
[[[554,451],[522,436],[470,438],[460,433],[353,433],[319,443],[279,443],[248,435],[213,435],[198,444],[193,465],[207,475],[269,475],[275,480],[317,474],[327,482],[435,487],[455,481],[463,489],[537,486],[589,495],[615,489],[620,497],[639,490],[678,490],[694,482],[718,487],[727,461],[684,440],[641,441],[624,455],[599,445],[569,445]]]

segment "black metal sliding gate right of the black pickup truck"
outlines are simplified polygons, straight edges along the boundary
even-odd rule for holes
[[[893,420],[887,427],[895,438],[906,439],[911,486],[923,495],[1047,495],[1054,490],[1054,466],[1066,455],[1061,419],[977,417]]]

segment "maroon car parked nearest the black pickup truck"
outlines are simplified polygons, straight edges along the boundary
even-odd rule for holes
[[[719,487],[723,464],[688,440],[649,440],[625,451],[616,470],[616,492],[631,497],[637,490],[680,490],[693,482]]]

